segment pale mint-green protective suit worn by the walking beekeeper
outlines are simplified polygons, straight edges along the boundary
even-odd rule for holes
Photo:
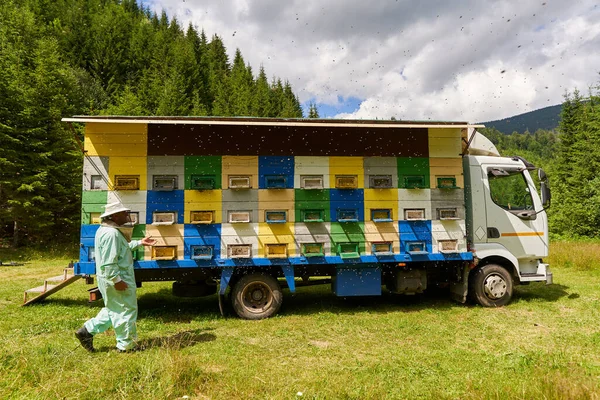
[[[134,348],[137,339],[135,322],[138,307],[132,251],[140,245],[139,240],[128,243],[118,225],[112,221],[102,223],[94,240],[96,277],[98,289],[104,299],[104,308],[95,318],[86,321],[84,326],[92,335],[112,326],[117,337],[117,348],[120,350]],[[115,289],[115,283],[120,280],[127,283],[127,289]]]

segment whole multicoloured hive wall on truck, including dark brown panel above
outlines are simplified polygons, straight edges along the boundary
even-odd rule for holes
[[[160,241],[140,252],[141,268],[173,259],[439,260],[467,251],[462,125],[244,121],[88,122],[82,243],[103,206],[120,200],[132,209],[134,237]]]

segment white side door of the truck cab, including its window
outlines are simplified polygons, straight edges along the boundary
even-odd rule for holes
[[[483,165],[487,242],[502,244],[517,259],[548,254],[547,218],[529,172],[517,166]]]

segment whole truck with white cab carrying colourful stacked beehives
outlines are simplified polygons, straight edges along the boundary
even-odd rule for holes
[[[552,283],[548,178],[501,157],[467,122],[74,116],[84,124],[80,258],[95,274],[106,204],[131,209],[135,277],[217,295],[241,318],[276,314],[283,289],[337,296],[447,288],[506,305]]]

